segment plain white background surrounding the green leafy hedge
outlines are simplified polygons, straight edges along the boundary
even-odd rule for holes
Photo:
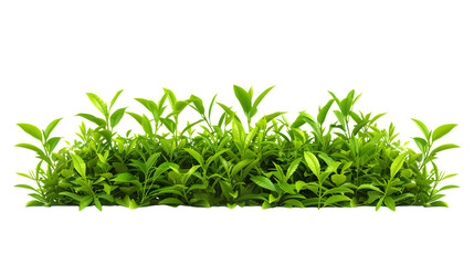
[[[1,264],[474,264],[472,1],[1,1]],[[33,142],[15,126],[74,138],[85,96],[143,112],[134,97],[196,94],[234,106],[232,85],[276,85],[259,114],[317,112],[327,91],[362,93],[400,139],[456,127],[440,155],[456,172],[449,209],[25,209]],[[215,107],[214,117],[221,110]],[[191,112],[185,112],[189,119]],[[259,115],[257,115],[259,116]],[[330,116],[334,119],[334,116]],[[217,123],[217,120],[214,120]],[[136,128],[124,117],[119,131]],[[414,146],[412,146],[415,148]]]

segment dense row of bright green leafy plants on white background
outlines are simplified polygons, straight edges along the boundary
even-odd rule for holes
[[[33,191],[34,200],[27,206],[78,205],[80,210],[91,204],[99,210],[117,204],[130,209],[373,205],[376,210],[386,205],[393,211],[396,205],[447,206],[440,201],[440,192],[457,187],[441,188],[440,182],[455,174],[440,171],[434,160],[440,151],[459,146],[435,147],[434,142],[456,125],[429,130],[413,119],[422,132],[413,137],[420,149],[415,151],[396,140],[392,124],[377,128],[376,120],[383,114],[356,113],[352,107],[360,95],[354,91],[343,99],[329,93],[331,99],[317,114],[302,112],[293,123],[280,112],[252,123],[272,88],[253,100],[252,88],[234,86],[244,117],[217,103],[223,110],[217,124],[211,121],[215,96],[206,108],[194,95],[178,100],[165,88],[158,102],[136,98],[147,109],[139,115],[125,107],[113,112],[122,91],[109,104],[87,93],[101,115],[77,114],[94,127],[82,123],[78,139],[64,141],[66,147],[59,151],[54,149],[61,137],[51,132],[61,119],[44,130],[19,124],[41,145],[17,145],[40,159],[34,170],[19,173],[38,188],[17,187]],[[201,118],[179,129],[185,108],[194,109]],[[333,124],[326,121],[330,108],[336,108]],[[140,134],[114,131],[125,114],[143,127]]]

